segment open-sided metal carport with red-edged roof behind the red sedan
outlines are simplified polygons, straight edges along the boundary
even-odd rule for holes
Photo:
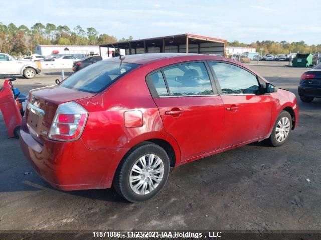
[[[154,37],[140,40],[115,42],[99,46],[108,48],[106,54],[108,57],[117,56],[117,53],[110,53],[109,48],[124,49],[126,55],[142,53],[199,53],[199,54],[217,54],[225,56],[226,40],[195,34],[181,34],[163,37]],[[103,56],[102,56],[103,57]],[[104,58],[104,57],[103,57]]]

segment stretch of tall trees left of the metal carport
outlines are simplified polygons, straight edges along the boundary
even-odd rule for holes
[[[132,40],[121,38],[118,41]],[[117,38],[108,34],[99,34],[94,27],[83,29],[76,26],[70,29],[66,25],[36,23],[28,28],[14,23],[5,25],[0,22],[0,52],[14,56],[26,55],[36,45],[99,45],[117,42]]]

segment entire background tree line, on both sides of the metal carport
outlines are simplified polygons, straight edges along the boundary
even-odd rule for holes
[[[132,40],[121,38],[118,41]],[[6,52],[14,56],[26,55],[27,51],[33,51],[36,45],[102,45],[117,42],[117,38],[108,34],[99,34],[94,27],[83,29],[76,26],[70,29],[66,25],[56,26],[52,23],[43,25],[36,23],[28,28],[25,25],[16,26],[0,22],[0,52]],[[228,46],[255,47],[262,54],[287,54],[290,52],[318,53],[321,52],[321,44],[307,45],[304,41],[256,41],[251,44],[232,41]],[[262,51],[261,51],[262,49]]]

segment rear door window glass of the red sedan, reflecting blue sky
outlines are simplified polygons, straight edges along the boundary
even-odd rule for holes
[[[213,94],[209,74],[203,62],[177,65],[163,72],[170,96]]]

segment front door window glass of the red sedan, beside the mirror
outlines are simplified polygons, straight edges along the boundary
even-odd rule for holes
[[[228,63],[211,62],[222,94],[258,94],[260,92],[256,76],[241,67]]]

